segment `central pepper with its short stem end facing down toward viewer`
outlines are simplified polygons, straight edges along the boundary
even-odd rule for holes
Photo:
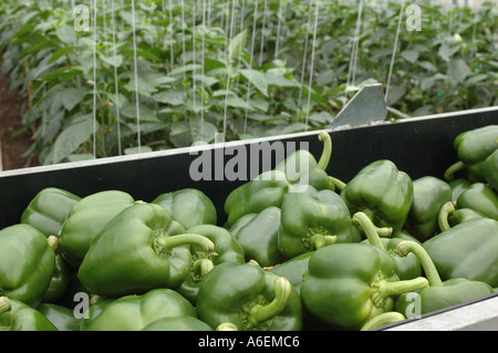
[[[278,240],[283,258],[290,259],[334,242],[357,242],[361,235],[335,191],[309,186],[283,198]]]

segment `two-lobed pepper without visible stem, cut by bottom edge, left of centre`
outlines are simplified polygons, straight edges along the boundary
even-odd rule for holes
[[[177,291],[167,288],[131,294],[107,304],[87,331],[141,331],[163,318],[197,318],[195,308]]]

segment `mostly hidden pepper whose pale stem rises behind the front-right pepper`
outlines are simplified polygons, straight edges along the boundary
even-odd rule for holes
[[[404,241],[401,238],[381,238],[376,231],[376,227],[372,220],[364,212],[356,212],[352,218],[353,224],[359,225],[364,229],[366,239],[364,242],[377,247],[381,250],[386,251],[394,260],[394,272],[400,280],[411,280],[422,276],[422,267],[415,255],[407,257],[400,257],[397,255],[396,247],[400,242]]]

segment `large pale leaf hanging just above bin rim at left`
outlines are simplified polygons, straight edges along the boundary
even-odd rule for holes
[[[87,118],[64,128],[55,139],[52,149],[52,163],[56,164],[77,149],[93,133],[93,120]]]

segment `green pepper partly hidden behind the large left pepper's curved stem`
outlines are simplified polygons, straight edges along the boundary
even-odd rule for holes
[[[216,266],[224,262],[246,263],[242,247],[221,227],[212,225],[198,225],[187,229],[187,233],[195,233],[211,240],[216,253],[206,251],[203,247],[193,243],[190,246],[191,266],[185,281],[176,290],[195,304],[199,294],[200,282],[204,277]]]

